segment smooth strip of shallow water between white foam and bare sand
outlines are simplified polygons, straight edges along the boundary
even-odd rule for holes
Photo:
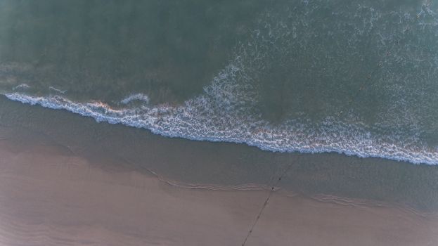
[[[438,166],[335,153],[270,153],[236,143],[165,138],[144,129],[97,123],[65,110],[1,97],[0,138],[18,145],[56,145],[65,153],[84,157],[94,167],[129,167],[188,188],[202,184],[210,188],[269,189],[284,175],[278,188],[295,193],[438,211]]]

